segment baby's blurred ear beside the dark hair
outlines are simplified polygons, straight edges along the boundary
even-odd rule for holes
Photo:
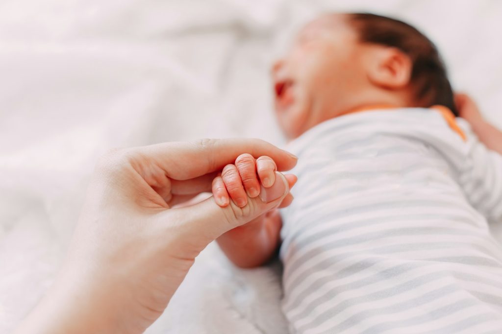
[[[397,48],[372,46],[366,54],[366,71],[372,84],[385,89],[402,89],[411,80],[413,62]]]

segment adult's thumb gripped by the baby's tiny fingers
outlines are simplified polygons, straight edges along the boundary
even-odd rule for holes
[[[185,238],[204,239],[209,244],[223,233],[277,208],[289,194],[289,189],[286,177],[276,172],[274,185],[270,188],[262,187],[260,196],[248,198],[246,206],[242,208],[237,207],[232,201],[224,208],[219,207],[214,198],[210,197],[198,204],[170,209],[167,212],[174,214],[175,219],[179,220],[176,225],[183,229]]]

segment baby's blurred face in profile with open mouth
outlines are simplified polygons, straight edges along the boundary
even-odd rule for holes
[[[333,117],[361,77],[357,35],[343,16],[305,26],[272,69],[279,124],[289,138]]]

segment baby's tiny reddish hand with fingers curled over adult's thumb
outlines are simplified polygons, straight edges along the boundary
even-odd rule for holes
[[[248,196],[250,198],[260,196],[264,202],[267,202],[267,197],[279,197],[280,195],[270,194],[273,192],[272,186],[276,181],[276,171],[276,163],[268,156],[255,159],[251,154],[239,155],[234,164],[227,164],[221,171],[221,175],[213,180],[212,192],[216,204],[226,207],[231,198],[236,206],[242,208],[246,206]],[[296,177],[294,175],[285,177],[291,189],[296,182]],[[265,188],[269,190],[265,191]],[[292,200],[293,197],[288,194],[281,207],[288,206]]]

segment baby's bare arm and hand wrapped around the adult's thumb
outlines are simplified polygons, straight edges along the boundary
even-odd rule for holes
[[[235,164],[226,165],[221,176],[213,181],[213,195],[220,206],[229,204],[230,198],[238,207],[247,204],[247,197],[260,198],[267,202],[267,195],[274,191],[276,164],[268,156],[255,160],[250,154],[242,154]],[[258,176],[257,176],[258,173]],[[286,175],[289,187],[296,177]],[[260,181],[258,180],[260,179]],[[280,182],[281,180],[277,180]],[[247,195],[246,195],[247,194]],[[279,207],[288,206],[293,197],[288,194]],[[281,216],[277,209],[234,228],[218,239],[218,245],[230,261],[242,268],[252,268],[266,263],[280,243]]]

